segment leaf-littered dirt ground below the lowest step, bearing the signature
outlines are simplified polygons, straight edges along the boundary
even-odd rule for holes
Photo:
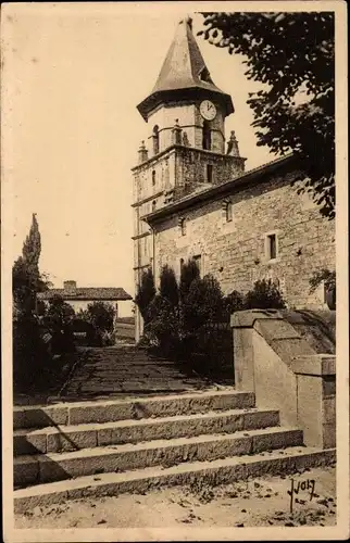
[[[64,505],[36,508],[17,516],[16,528],[170,528],[335,526],[336,469],[317,468],[293,476],[298,482],[314,480],[310,490],[295,494],[290,514],[291,478],[274,477],[215,489],[173,488]]]

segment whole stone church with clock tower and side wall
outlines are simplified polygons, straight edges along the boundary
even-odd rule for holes
[[[137,106],[150,126],[134,175],[135,289],[151,266],[179,276],[193,258],[225,294],[273,279],[291,308],[324,308],[312,273],[335,269],[335,225],[292,181],[304,178],[292,154],[246,172],[229,94],[213,83],[188,17],[180,21],[155,86]],[[253,152],[253,150],[252,150]],[[136,339],[142,330],[136,312]]]

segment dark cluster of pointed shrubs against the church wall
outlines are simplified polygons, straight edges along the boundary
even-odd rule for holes
[[[195,261],[183,265],[179,286],[174,270],[162,268],[160,291],[145,307],[143,336],[139,346],[155,348],[158,354],[182,361],[204,375],[232,376],[229,317],[246,308],[283,308],[275,283],[257,281],[245,296],[233,291],[224,296],[218,281],[203,278]]]

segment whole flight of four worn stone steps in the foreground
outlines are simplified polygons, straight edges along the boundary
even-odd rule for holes
[[[14,407],[16,513],[159,485],[228,483],[335,460],[254,395],[207,390]]]

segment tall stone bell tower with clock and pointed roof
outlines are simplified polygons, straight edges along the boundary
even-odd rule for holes
[[[190,17],[179,22],[157,83],[137,109],[149,136],[133,168],[136,290],[142,272],[153,266],[155,243],[142,216],[245,171],[234,134],[225,152],[225,118],[235,111],[233,100],[213,83]],[[153,275],[157,278],[158,270]]]

